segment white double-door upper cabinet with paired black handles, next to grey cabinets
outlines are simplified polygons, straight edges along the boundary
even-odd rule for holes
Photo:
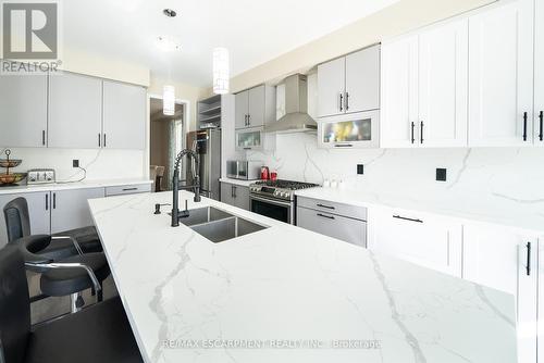
[[[382,48],[382,147],[466,147],[468,20]]]

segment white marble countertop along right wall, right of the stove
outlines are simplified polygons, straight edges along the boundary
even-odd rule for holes
[[[535,237],[544,235],[544,210],[535,212],[534,209],[529,209],[527,205],[523,205],[523,203],[517,203],[521,205],[516,205],[517,208],[514,208],[514,205],[498,205],[496,201],[481,201],[479,208],[466,208],[463,205],[463,200],[436,200],[430,202],[422,201],[419,198],[407,198],[406,196],[322,187],[297,190],[295,193],[299,197],[366,208],[386,206],[396,210],[440,214],[469,223],[491,223],[503,227],[506,226],[519,229],[523,233],[534,234],[536,235]]]

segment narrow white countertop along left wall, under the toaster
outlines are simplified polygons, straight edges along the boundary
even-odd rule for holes
[[[1,187],[0,195],[12,195],[21,192],[45,191],[45,190],[67,190],[67,189],[87,189],[101,187],[116,187],[123,185],[152,184],[152,180],[145,178],[120,178],[101,180],[83,180],[75,183],[51,183],[40,185],[20,185],[13,187]]]

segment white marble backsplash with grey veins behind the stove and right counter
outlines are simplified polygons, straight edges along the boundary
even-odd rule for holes
[[[273,152],[249,151],[247,158],[284,179],[336,179],[344,188],[421,202],[511,204],[544,215],[544,148],[330,150],[318,148],[316,134],[285,134],[276,136]],[[357,164],[364,165],[363,175]],[[446,182],[436,182],[437,167],[447,170]]]

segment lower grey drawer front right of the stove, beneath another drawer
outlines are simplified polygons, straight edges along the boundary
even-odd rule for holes
[[[367,247],[367,223],[363,221],[298,206],[297,226],[351,245]]]

